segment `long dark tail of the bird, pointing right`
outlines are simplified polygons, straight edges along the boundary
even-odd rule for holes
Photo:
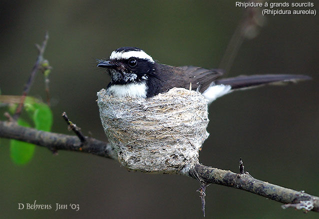
[[[230,85],[231,89],[243,89],[248,87],[260,86],[264,84],[284,84],[287,82],[296,82],[298,80],[309,80],[307,75],[293,74],[264,74],[237,76],[215,80],[215,84]]]

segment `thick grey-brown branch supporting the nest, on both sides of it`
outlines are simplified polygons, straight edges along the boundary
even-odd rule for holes
[[[85,142],[81,144],[77,136],[40,131],[17,125],[16,122],[12,121],[0,121],[0,137],[34,143],[53,151],[72,150],[117,159],[110,145],[104,141],[85,137]],[[234,173],[198,163],[188,172],[188,175],[202,183],[215,183],[238,188],[281,203],[289,203],[283,205],[285,207],[300,207],[306,203],[307,209],[319,212],[319,197],[255,179],[247,172]]]

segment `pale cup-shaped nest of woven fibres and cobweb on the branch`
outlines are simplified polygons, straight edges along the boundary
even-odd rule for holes
[[[199,92],[172,88],[144,99],[97,92],[106,136],[119,162],[130,170],[186,173],[198,163],[208,137],[207,101]]]

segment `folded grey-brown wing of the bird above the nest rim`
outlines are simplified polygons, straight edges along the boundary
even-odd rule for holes
[[[199,92],[206,90],[209,85],[222,75],[221,69],[206,69],[192,65],[178,67],[180,71],[176,71],[177,75],[185,75],[187,80],[183,87],[189,88],[191,82],[192,89],[198,89]]]

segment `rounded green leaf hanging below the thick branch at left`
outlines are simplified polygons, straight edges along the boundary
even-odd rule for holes
[[[30,125],[19,118],[17,120],[19,125],[29,127]],[[19,140],[10,140],[10,156],[14,163],[22,165],[31,160],[34,153],[35,145]]]

